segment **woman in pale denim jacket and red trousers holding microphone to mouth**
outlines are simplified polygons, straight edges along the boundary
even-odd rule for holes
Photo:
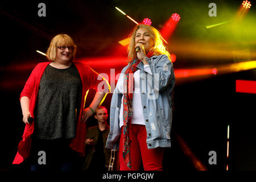
[[[120,170],[162,170],[164,147],[171,147],[172,91],[170,53],[159,31],[144,24],[131,35],[129,64],[123,68],[110,108],[106,148],[118,149]]]

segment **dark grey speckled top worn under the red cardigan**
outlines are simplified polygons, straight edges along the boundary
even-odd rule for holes
[[[34,111],[35,137],[76,137],[76,113],[79,114],[81,95],[82,81],[74,64],[66,69],[48,65],[40,80]]]

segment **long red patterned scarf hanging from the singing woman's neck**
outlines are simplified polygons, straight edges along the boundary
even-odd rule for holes
[[[153,56],[153,51],[147,53],[147,57]],[[131,168],[131,115],[133,114],[133,73],[137,71],[141,60],[134,59],[123,76],[123,160],[127,167]]]

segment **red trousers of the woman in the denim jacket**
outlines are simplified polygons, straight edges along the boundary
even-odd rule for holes
[[[141,159],[145,171],[162,171],[164,148],[147,148],[144,125],[131,125],[131,169],[123,161],[123,127],[119,142],[120,171],[139,171]]]

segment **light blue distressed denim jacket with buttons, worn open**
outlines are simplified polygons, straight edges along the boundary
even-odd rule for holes
[[[144,72],[143,63],[140,69],[140,88],[143,116],[147,130],[148,149],[171,147],[170,133],[172,124],[172,91],[175,85],[174,69],[166,55],[146,57],[152,75]],[[129,67],[123,68],[124,73]],[[110,133],[106,148],[118,149],[121,129],[119,127],[119,111],[122,93],[115,88],[110,106]],[[123,122],[123,121],[121,121]]]

